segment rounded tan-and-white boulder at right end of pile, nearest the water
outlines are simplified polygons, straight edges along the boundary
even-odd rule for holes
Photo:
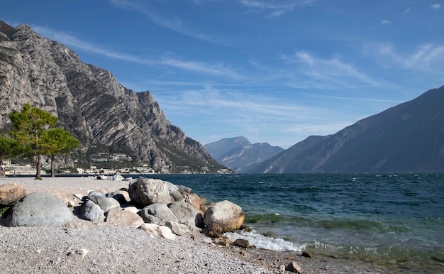
[[[237,204],[225,200],[216,202],[206,210],[204,223],[210,236],[218,236],[224,232],[239,229],[244,218],[245,214]]]

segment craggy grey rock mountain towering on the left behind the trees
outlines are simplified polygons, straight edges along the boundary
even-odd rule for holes
[[[170,124],[149,91],[123,87],[110,72],[26,24],[13,28],[0,21],[0,94],[0,128],[6,131],[8,114],[28,102],[57,116],[59,126],[79,139],[80,162],[105,152],[126,153],[157,172],[224,168]]]

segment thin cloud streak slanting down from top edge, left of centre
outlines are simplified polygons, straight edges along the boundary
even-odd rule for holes
[[[150,18],[150,20],[157,26],[170,28],[177,33],[182,33],[189,37],[204,40],[209,43],[226,45],[226,43],[218,38],[196,32],[194,29],[185,26],[185,23],[181,18],[179,18],[179,16],[167,17],[162,15],[160,12],[155,12],[154,9],[150,9],[147,2],[134,0],[111,0],[111,3],[123,9],[131,9],[145,14],[145,16],[148,16],[148,18]],[[201,4],[201,1],[195,1],[194,4]]]

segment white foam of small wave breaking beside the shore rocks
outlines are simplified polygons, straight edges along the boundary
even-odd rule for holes
[[[274,251],[303,251],[306,248],[306,244],[298,244],[293,243],[291,241],[285,241],[280,238],[272,238],[269,236],[264,236],[261,234],[257,234],[255,230],[251,232],[245,231],[236,231],[236,232],[228,232],[223,234],[228,236],[231,241],[235,241],[237,239],[245,239],[252,246],[256,246],[257,248],[264,248],[268,250]]]

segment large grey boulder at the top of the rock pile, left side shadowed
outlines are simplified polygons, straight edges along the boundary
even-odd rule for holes
[[[170,190],[167,182],[159,179],[139,177],[128,187],[131,201],[140,207],[150,204],[170,204]]]

